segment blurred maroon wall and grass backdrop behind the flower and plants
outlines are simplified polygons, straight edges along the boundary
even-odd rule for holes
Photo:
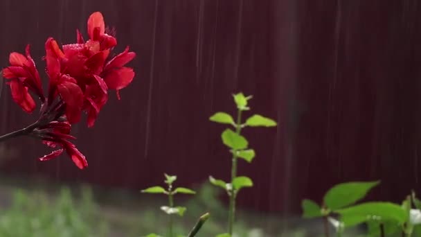
[[[257,156],[239,164],[255,184],[238,198],[239,236],[308,236],[301,199],[321,200],[338,182],[381,179],[370,196],[380,200],[419,192],[420,8],[417,0],[1,1],[2,67],[31,44],[45,76],[46,38],[73,43],[76,28],[87,37],[94,11],[116,28],[116,53],[127,45],[137,53],[122,100],[111,94],[93,128],[72,129],[86,170],[65,155],[37,161],[49,151],[30,138],[0,144],[1,236],[159,231],[165,197],[138,191],[162,184],[163,173],[198,191],[179,199],[188,207],[179,231],[211,211],[203,236],[223,232],[226,199],[207,179],[229,179],[231,159],[224,126],[208,117],[233,114],[240,91],[278,127],[244,130]],[[35,119],[3,86],[0,133]]]

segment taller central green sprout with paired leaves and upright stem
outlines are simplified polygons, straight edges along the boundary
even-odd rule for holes
[[[228,218],[228,233],[222,234],[221,236],[232,236],[233,224],[235,221],[235,198],[237,197],[238,191],[241,188],[253,186],[253,181],[246,176],[237,176],[237,160],[238,158],[244,159],[251,163],[256,152],[249,148],[249,142],[240,133],[245,127],[274,127],[276,122],[272,119],[261,116],[260,114],[254,114],[250,116],[245,123],[242,123],[242,112],[250,110],[248,102],[252,96],[244,96],[242,93],[234,94],[234,102],[237,105],[237,120],[234,121],[230,114],[225,112],[217,112],[213,114],[210,121],[215,123],[224,123],[233,126],[234,130],[227,128],[222,132],[222,143],[228,146],[232,153],[232,166],[231,166],[231,182],[227,183],[221,179],[215,179],[212,176],[209,177],[209,181],[215,186],[223,188],[229,195],[229,218]]]

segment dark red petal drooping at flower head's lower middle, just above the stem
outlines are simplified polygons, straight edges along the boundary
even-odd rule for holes
[[[57,89],[66,103],[66,116],[69,123],[80,121],[80,112],[83,105],[82,89],[72,82],[60,82]]]

